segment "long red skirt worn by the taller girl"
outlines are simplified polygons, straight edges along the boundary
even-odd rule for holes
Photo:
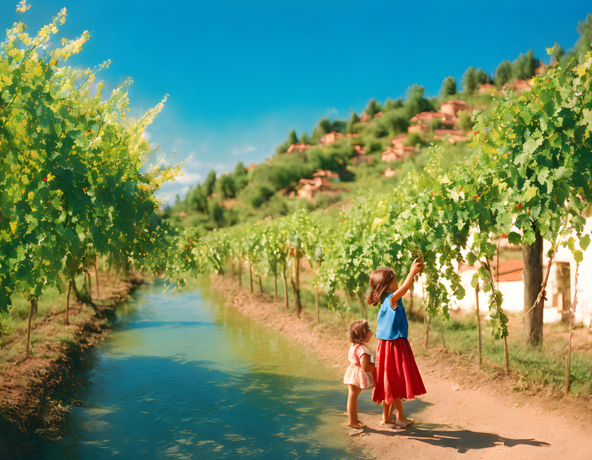
[[[407,339],[378,339],[376,351],[376,387],[372,401],[392,404],[397,398],[415,399],[426,394],[422,376],[419,374],[411,346]]]

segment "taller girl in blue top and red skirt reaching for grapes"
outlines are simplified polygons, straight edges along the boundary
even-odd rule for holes
[[[413,284],[413,278],[422,268],[423,263],[414,260],[401,286],[398,285],[392,268],[378,268],[370,275],[371,293],[368,303],[380,306],[376,329],[377,381],[372,391],[372,401],[382,403],[382,426],[404,429],[411,425],[415,420],[405,417],[401,399],[415,399],[416,396],[426,393],[422,376],[407,341],[407,315],[401,300]],[[391,419],[392,406],[397,413],[395,420]]]

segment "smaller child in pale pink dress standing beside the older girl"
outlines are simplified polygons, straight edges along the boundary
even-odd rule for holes
[[[358,420],[358,395],[362,390],[374,388],[374,358],[365,345],[372,338],[372,329],[368,322],[355,321],[349,326],[349,338],[352,346],[349,347],[348,359],[351,363],[345,371],[343,383],[349,387],[348,394],[348,426],[352,428],[363,428],[364,425]]]

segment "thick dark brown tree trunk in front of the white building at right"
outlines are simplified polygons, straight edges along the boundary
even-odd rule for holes
[[[524,309],[525,312],[532,308],[539,295],[543,283],[543,237],[536,232],[536,239],[532,245],[522,245],[524,258],[524,270],[522,279],[524,281]],[[540,298],[539,304],[526,313],[524,326],[526,341],[529,345],[539,345],[543,340],[543,307],[544,296]]]

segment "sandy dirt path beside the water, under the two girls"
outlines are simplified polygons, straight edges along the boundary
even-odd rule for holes
[[[218,282],[216,282],[218,281]],[[241,312],[269,328],[285,333],[318,352],[321,361],[336,370],[336,378],[347,367],[349,343],[342,328],[313,325],[311,318],[297,318],[278,309],[278,303],[228,286],[214,278],[220,290]],[[323,343],[319,347],[319,343]],[[372,341],[375,342],[375,339]],[[372,344],[371,342],[371,344]],[[373,344],[376,345],[375,343]],[[413,348],[418,348],[411,341]],[[556,397],[512,393],[514,381],[491,381],[476,366],[467,368],[461,358],[430,350],[416,360],[427,394],[404,402],[406,415],[416,423],[404,431],[379,426],[381,407],[361,404],[360,419],[368,424],[354,445],[380,459],[478,458],[478,459],[590,459],[592,458],[592,414],[590,406]],[[346,391],[344,391],[345,406]],[[361,399],[370,399],[362,393]],[[368,410],[368,407],[371,407]],[[340,418],[344,435],[347,419]]]

